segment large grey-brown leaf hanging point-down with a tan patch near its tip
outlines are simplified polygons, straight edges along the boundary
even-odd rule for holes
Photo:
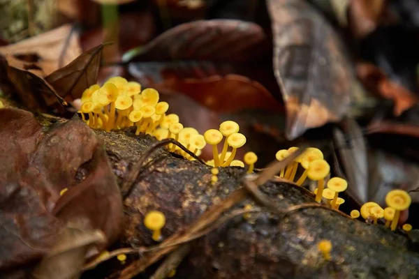
[[[269,0],[274,73],[287,109],[286,136],[339,121],[355,77],[344,45],[325,18],[302,0]]]

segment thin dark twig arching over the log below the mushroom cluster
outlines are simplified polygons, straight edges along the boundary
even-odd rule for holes
[[[205,164],[203,160],[198,158],[198,156],[196,156],[193,152],[189,151],[189,149],[186,149],[186,147],[183,144],[181,144],[175,139],[166,139],[166,140],[161,140],[159,142],[156,142],[149,149],[147,149],[147,151],[145,151],[145,153],[140,157],[137,163],[133,165],[131,172],[129,172],[127,175],[126,181],[122,183],[121,192],[124,199],[126,199],[126,197],[128,197],[128,195],[131,193],[131,188],[133,186],[133,183],[135,182],[135,179],[137,178],[138,174],[140,174],[140,170],[142,166],[144,165],[145,161],[150,156],[152,156],[152,154],[156,152],[158,149],[168,144],[175,144],[176,146],[179,146],[180,149],[182,149],[183,151],[188,153],[190,156],[195,158],[199,163]]]

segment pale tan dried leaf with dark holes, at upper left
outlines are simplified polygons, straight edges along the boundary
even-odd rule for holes
[[[40,77],[50,75],[54,70],[66,66],[81,53],[78,33],[72,32],[70,24],[13,45],[0,47],[0,54],[14,57],[16,64],[10,63],[8,59],[11,66],[27,70],[25,66],[36,65],[40,69]],[[37,59],[27,61],[25,57],[28,56],[36,56]]]

